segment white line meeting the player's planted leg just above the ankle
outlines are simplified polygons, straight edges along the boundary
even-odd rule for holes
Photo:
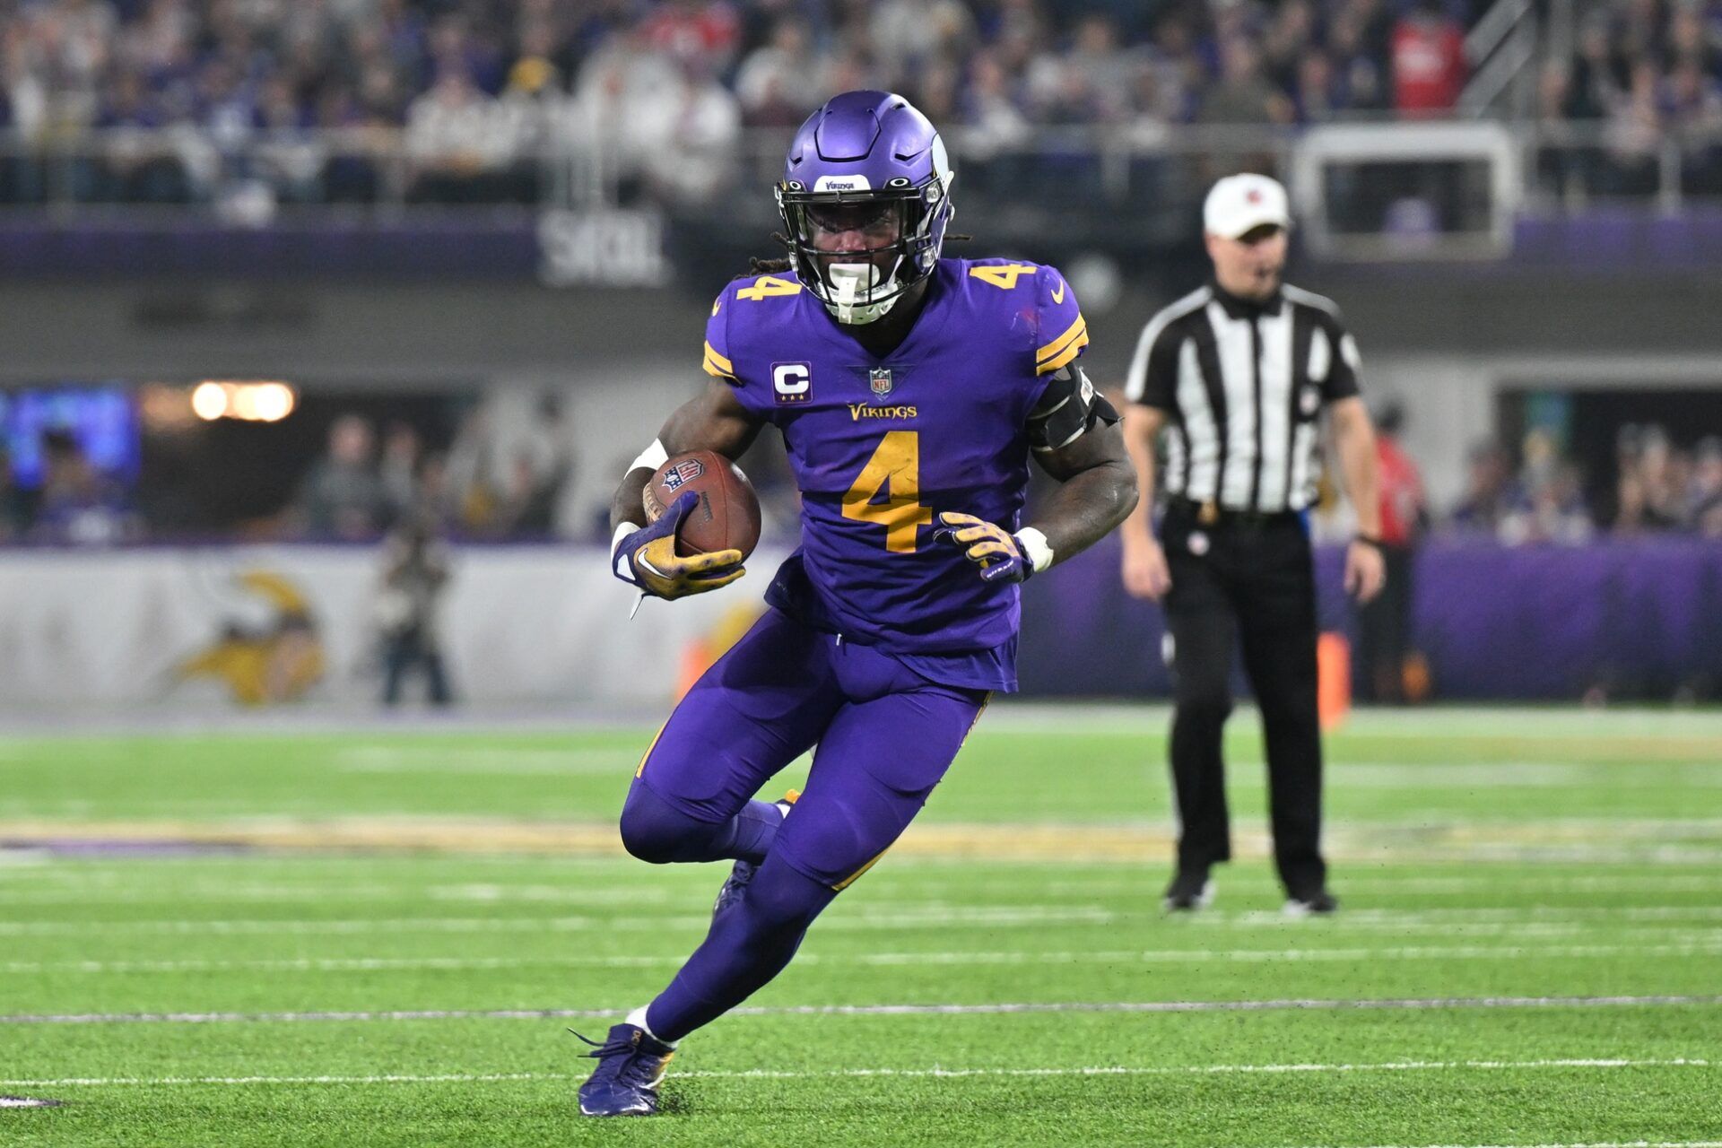
[[[742,1005],[732,1017],[923,1017],[923,1015],[1033,1015],[1062,1012],[1397,1012],[1441,1009],[1632,1009],[1712,1007],[1722,997],[1407,997],[1362,1000],[1142,1000],[1142,1002],[1016,1002],[985,1005]],[[0,1015],[0,1024],[269,1024],[310,1021],[580,1021],[625,1015],[613,1009],[413,1009],[389,1012],[64,1012]]]

